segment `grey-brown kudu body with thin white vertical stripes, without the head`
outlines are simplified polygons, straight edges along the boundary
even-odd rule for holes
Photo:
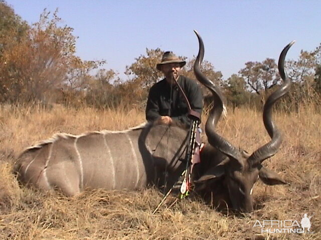
[[[74,195],[85,188],[137,189],[179,174],[187,130],[146,125],[126,131],[57,134],[28,148],[15,164],[18,179]],[[179,169],[181,170],[181,169]]]

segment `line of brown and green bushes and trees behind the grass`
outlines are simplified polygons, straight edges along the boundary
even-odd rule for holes
[[[126,66],[126,79],[102,66],[106,60],[83,60],[76,56],[73,28],[61,24],[58,11],[47,10],[29,25],[4,0],[0,0],[0,102],[143,108],[149,87],[162,78],[155,68],[163,50],[145,52]],[[280,43],[282,47],[284,42]],[[106,56],[108,58],[108,56]],[[194,77],[194,59],[187,59],[184,75]],[[298,59],[286,61],[293,84],[279,102],[285,110],[298,109],[303,102],[319,106],[321,95],[321,43],[313,51],[301,50]],[[261,107],[266,96],[281,83],[275,59],[245,62],[245,67],[224,79],[209,61],[203,72],[225,92],[233,107]],[[205,101],[211,96],[204,88]],[[286,104],[284,104],[286,103]]]

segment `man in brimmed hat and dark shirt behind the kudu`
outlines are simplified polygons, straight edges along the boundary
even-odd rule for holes
[[[156,68],[164,73],[165,78],[155,83],[149,90],[145,111],[148,121],[161,124],[172,124],[177,121],[190,125],[189,114],[198,115],[200,118],[203,107],[202,90],[196,81],[180,75],[185,64],[186,61],[181,60],[172,51],[163,54],[162,61]],[[192,112],[174,78],[185,92]]]

